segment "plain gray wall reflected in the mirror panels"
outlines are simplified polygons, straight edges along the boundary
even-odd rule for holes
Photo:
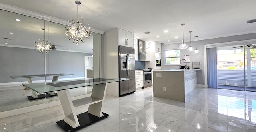
[[[52,50],[46,54],[46,74],[68,73],[74,74],[73,78],[84,77],[84,56],[92,54]],[[31,74],[44,74],[44,54],[35,49],[0,46],[0,83],[27,81],[26,78],[12,79],[10,76]]]

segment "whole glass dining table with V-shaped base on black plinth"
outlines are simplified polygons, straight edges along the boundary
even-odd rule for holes
[[[84,126],[90,125],[98,120],[102,120],[109,115],[102,112],[103,103],[106,96],[107,84],[130,80],[129,78],[86,78],[80,80],[56,81],[47,83],[25,84],[37,93],[50,93],[57,91],[64,119],[56,123],[66,132],[72,132]],[[92,93],[88,97],[72,100],[69,89],[92,86]],[[88,111],[76,115],[76,107],[89,105]]]

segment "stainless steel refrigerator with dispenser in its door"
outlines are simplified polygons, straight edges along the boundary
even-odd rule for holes
[[[135,92],[134,48],[119,46],[119,78],[131,79],[119,82],[119,96]]]

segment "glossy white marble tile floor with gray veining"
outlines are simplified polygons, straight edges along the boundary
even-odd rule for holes
[[[256,93],[197,87],[187,102],[153,97],[139,89],[124,97],[106,95],[108,118],[76,132],[256,132]],[[84,109],[79,109],[82,113]],[[55,122],[60,105],[0,119],[0,132],[63,132]]]

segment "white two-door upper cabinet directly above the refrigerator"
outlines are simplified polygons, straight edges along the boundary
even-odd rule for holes
[[[133,33],[118,29],[118,45],[134,48],[133,43]]]

